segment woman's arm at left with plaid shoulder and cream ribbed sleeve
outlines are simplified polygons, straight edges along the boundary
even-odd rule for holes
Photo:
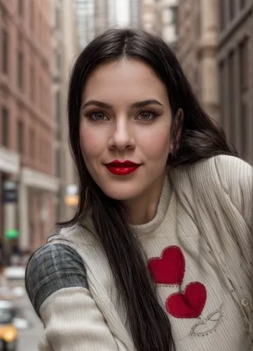
[[[42,246],[30,258],[25,280],[45,327],[40,351],[118,350],[90,296],[86,269],[74,249],[63,244]]]

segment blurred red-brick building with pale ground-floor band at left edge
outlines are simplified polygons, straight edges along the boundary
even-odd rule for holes
[[[50,13],[50,0],[0,0],[0,232],[10,256],[55,224]]]

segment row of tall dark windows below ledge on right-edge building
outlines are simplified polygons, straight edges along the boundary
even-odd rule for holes
[[[249,38],[245,37],[219,64],[221,124],[242,157],[248,145]]]

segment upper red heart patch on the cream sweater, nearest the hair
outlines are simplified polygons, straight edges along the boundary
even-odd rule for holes
[[[184,279],[185,260],[178,246],[169,246],[160,258],[151,258],[148,267],[157,284],[181,284]]]

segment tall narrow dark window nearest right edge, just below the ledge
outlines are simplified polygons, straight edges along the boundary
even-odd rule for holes
[[[248,71],[249,71],[249,39],[245,38],[239,45],[239,61],[240,61],[240,88],[241,91],[247,90],[248,87]]]

